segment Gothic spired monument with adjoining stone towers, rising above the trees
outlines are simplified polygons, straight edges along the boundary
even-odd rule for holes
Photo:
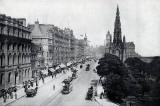
[[[125,36],[121,33],[121,22],[119,16],[119,8],[117,6],[116,19],[114,23],[114,36],[108,31],[106,35],[106,53],[111,53],[118,56],[122,61],[129,57],[137,57],[138,54],[135,52],[134,42],[126,42]]]

